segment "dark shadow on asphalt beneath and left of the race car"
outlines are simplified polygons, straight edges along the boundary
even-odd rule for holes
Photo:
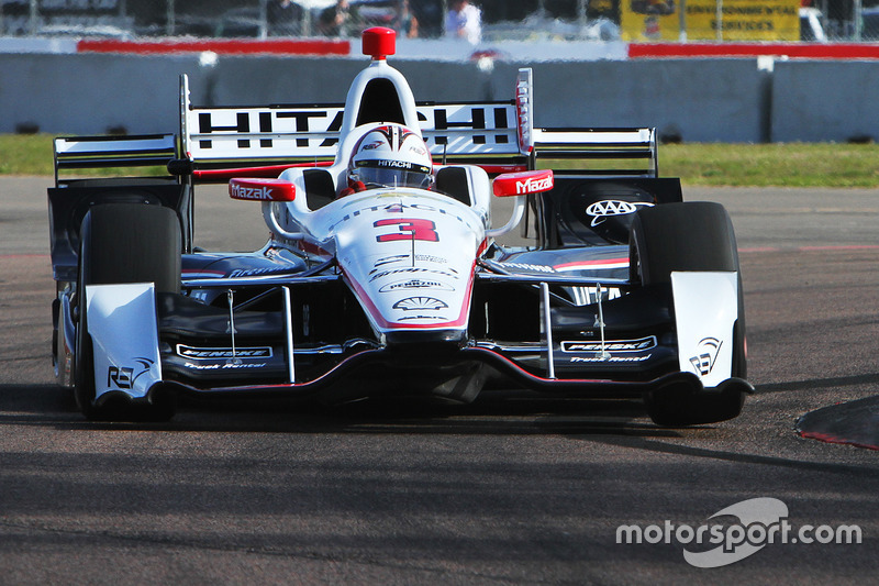
[[[168,422],[87,421],[69,389],[0,385],[0,425],[176,432],[399,433],[458,435],[594,435],[675,438],[633,401],[483,392],[470,405],[381,398],[324,406],[285,399],[198,400],[183,397]]]

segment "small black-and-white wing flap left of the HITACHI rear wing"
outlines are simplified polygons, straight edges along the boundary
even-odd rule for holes
[[[164,167],[178,156],[174,134],[58,137],[54,146],[56,186],[63,170]]]

